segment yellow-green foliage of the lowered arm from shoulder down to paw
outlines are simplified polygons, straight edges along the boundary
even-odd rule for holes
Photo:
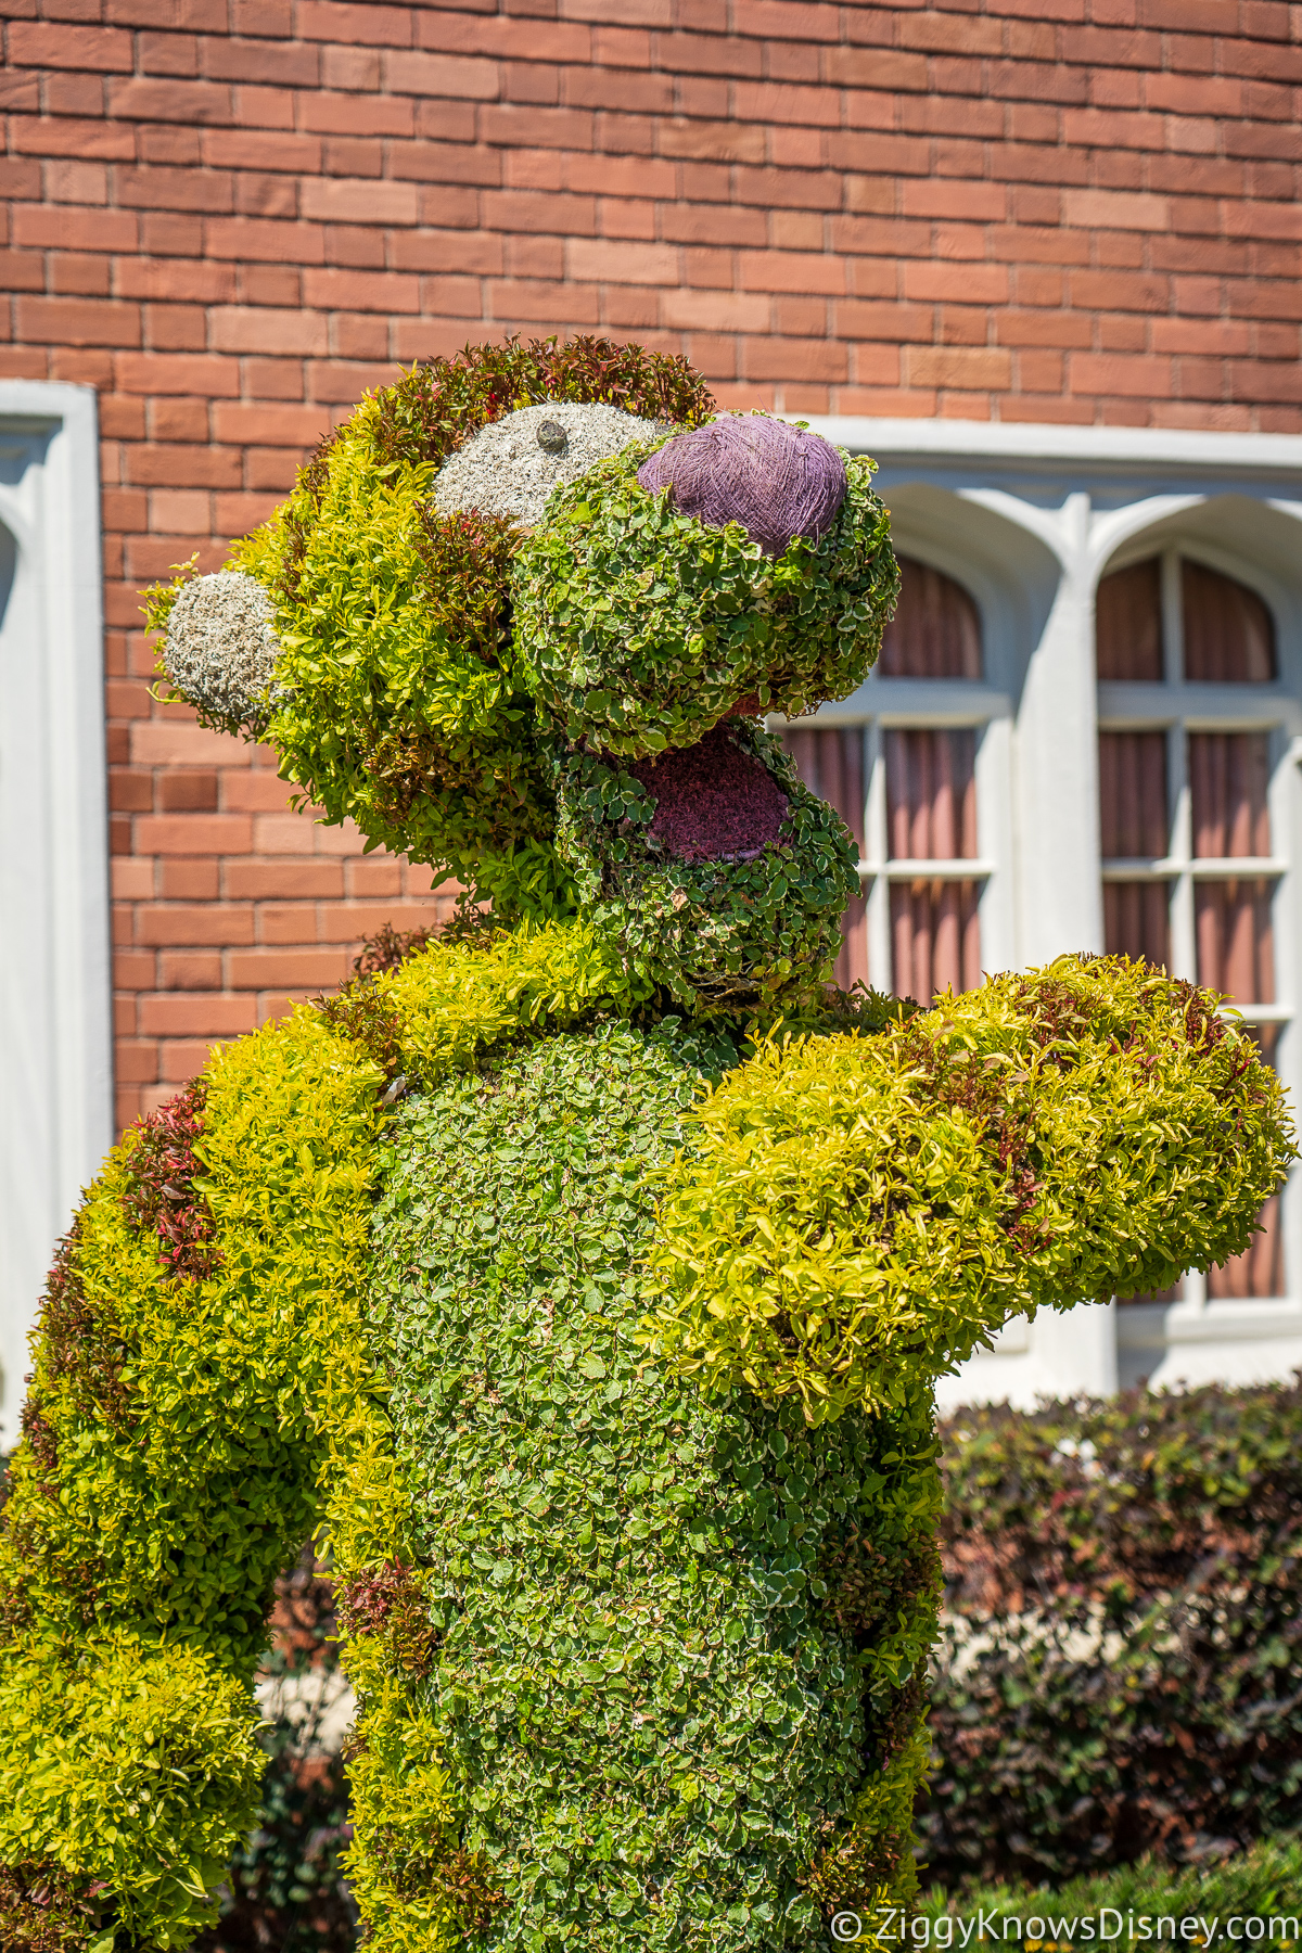
[[[219,1053],[207,1078],[219,1267],[164,1275],[123,1211],[129,1133],[76,1238],[88,1312],[121,1351],[121,1408],[96,1402],[66,1348],[37,1346],[29,1416],[47,1443],[14,1463],[0,1592],[45,1633],[148,1623],[248,1664],[271,1580],[316,1521],[326,1406],[361,1381],[379,1080],[314,1012]]]

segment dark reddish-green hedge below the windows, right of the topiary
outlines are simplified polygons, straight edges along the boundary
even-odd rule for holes
[[[929,1875],[1060,1883],[1302,1828],[1302,1379],[962,1410],[945,1437]]]

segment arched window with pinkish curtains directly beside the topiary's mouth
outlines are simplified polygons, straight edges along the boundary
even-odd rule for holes
[[[876,670],[830,725],[791,723],[800,777],[859,844],[863,900],[845,916],[837,982],[931,1002],[982,978],[982,914],[994,865],[984,801],[999,793],[988,744],[999,713],[986,686],[982,619],[953,576],[900,557],[900,607]],[[992,764],[994,762],[994,764]]]

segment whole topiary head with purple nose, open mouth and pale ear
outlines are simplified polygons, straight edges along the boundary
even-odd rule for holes
[[[711,410],[685,361],[603,340],[418,367],[234,547],[267,598],[238,674],[215,578],[152,592],[164,668],[502,916],[590,908],[693,1006],[804,986],[853,844],[759,715],[859,682],[898,570],[871,463]]]

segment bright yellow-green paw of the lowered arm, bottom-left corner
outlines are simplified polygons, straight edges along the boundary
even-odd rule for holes
[[[59,1867],[146,1945],[187,1947],[258,1795],[254,1724],[195,1648],[113,1635],[62,1662],[21,1642],[0,1668],[0,1863]]]

